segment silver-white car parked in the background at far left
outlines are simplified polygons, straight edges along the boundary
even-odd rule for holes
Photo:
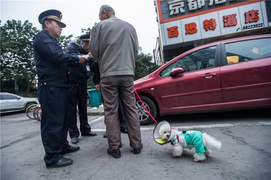
[[[32,104],[39,104],[38,99],[0,92],[0,113],[25,111]]]

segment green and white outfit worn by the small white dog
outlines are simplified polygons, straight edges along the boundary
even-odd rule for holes
[[[203,145],[203,133],[201,131],[178,131],[171,145],[180,144],[183,148],[194,147],[197,154],[203,154],[207,147]]]

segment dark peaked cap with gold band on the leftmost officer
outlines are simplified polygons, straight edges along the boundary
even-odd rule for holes
[[[62,28],[66,27],[66,24],[61,22],[62,14],[58,10],[50,9],[50,10],[40,13],[40,15],[38,16],[38,22],[40,24],[42,24],[45,20],[48,20],[48,19],[52,19],[54,21],[60,22]]]

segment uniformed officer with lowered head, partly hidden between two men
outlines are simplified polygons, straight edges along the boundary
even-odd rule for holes
[[[90,55],[88,46],[90,41],[90,34],[84,34],[79,37],[81,44],[78,45],[72,42],[68,45],[66,53],[70,55]],[[87,115],[87,81],[89,78],[90,64],[93,59],[89,59],[84,63],[73,64],[68,63],[69,71],[69,126],[68,133],[72,144],[78,143],[80,135],[77,127],[77,104],[80,120],[81,136],[96,136],[95,132],[91,131],[91,126],[88,123]]]

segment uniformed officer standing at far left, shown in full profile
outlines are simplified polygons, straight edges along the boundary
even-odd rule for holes
[[[69,146],[68,134],[68,67],[66,63],[82,63],[82,56],[67,55],[62,52],[56,38],[60,37],[62,14],[58,10],[42,12],[38,21],[42,24],[33,40],[34,62],[38,76],[38,100],[42,109],[41,140],[45,150],[46,167],[64,167],[72,164],[72,159],[62,155],[79,150],[79,146]]]

